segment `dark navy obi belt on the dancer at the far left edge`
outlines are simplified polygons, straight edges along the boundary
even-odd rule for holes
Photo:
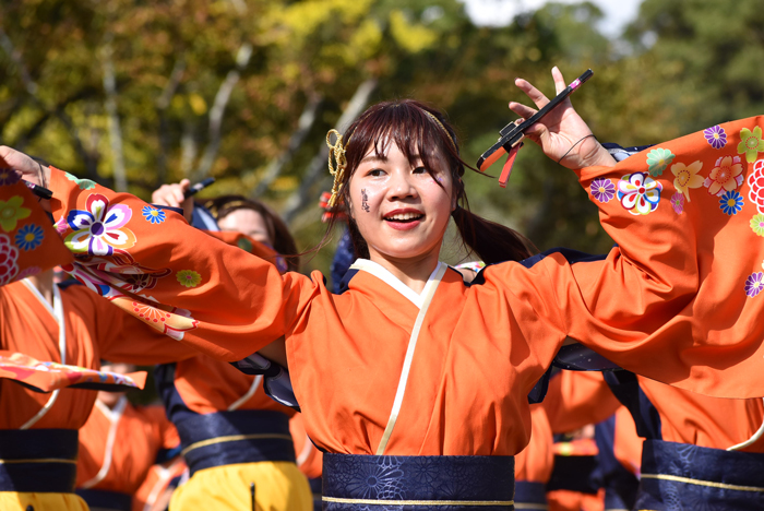
[[[75,429],[0,430],[0,491],[70,494],[76,453]]]

